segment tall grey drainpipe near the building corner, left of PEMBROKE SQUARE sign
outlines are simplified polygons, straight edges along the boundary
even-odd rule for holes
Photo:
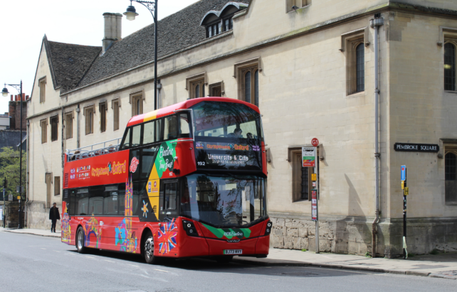
[[[381,13],[374,14],[374,18],[369,20],[369,25],[374,29],[374,201],[375,217],[372,225],[372,257],[376,257],[376,225],[379,221],[379,26],[384,24]]]

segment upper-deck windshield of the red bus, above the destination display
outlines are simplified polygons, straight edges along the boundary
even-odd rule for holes
[[[245,104],[200,102],[194,112],[194,136],[262,139],[261,115]]]

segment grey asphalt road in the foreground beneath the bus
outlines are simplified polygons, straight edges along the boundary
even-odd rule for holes
[[[457,291],[457,281],[308,267],[217,264],[154,266],[141,256],[78,254],[60,239],[0,232],[0,291]]]

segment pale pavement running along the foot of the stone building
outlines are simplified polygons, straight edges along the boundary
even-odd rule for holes
[[[61,237],[61,232],[51,233],[43,229],[4,229],[0,231],[34,234],[42,237]],[[429,276],[457,279],[457,252],[411,256],[409,259],[370,258],[349,254],[302,252],[292,249],[270,249],[266,259],[235,256],[239,264],[256,266],[315,266],[330,269],[372,271],[376,273]]]

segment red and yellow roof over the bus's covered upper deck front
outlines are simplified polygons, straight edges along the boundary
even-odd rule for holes
[[[148,112],[147,114],[139,114],[135,117],[132,117],[132,119],[130,119],[130,121],[127,123],[127,126],[133,126],[136,124],[144,123],[146,121],[157,119],[159,117],[168,116],[169,114],[173,114],[174,111],[176,111],[177,109],[189,109],[189,107],[193,107],[195,104],[198,104],[199,102],[233,102],[236,104],[246,104],[248,107],[251,107],[251,109],[260,113],[258,107],[256,107],[254,104],[243,102],[238,99],[229,97],[199,97],[194,99],[188,99],[185,102],[172,104],[168,107],[157,109],[153,112]]]

